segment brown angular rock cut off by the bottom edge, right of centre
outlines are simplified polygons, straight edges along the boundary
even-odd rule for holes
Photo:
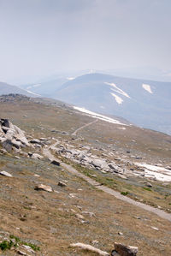
[[[115,242],[115,252],[121,256],[136,256],[138,253],[138,247],[125,246],[121,243]]]

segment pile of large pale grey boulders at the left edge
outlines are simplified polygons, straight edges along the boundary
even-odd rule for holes
[[[0,119],[0,143],[7,151],[10,151],[13,147],[19,149],[23,146],[29,146],[21,128],[3,118]]]

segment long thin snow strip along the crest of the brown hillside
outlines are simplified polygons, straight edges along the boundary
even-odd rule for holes
[[[74,110],[79,110],[80,112],[85,113],[87,116],[91,116],[93,118],[97,118],[97,119],[103,120],[105,122],[111,122],[111,123],[121,124],[121,125],[126,125],[127,126],[127,124],[125,124],[125,123],[121,123],[121,122],[119,122],[119,121],[117,121],[117,120],[115,120],[113,118],[97,114],[97,113],[92,112],[90,110],[85,110],[85,108],[80,108],[80,107],[74,106]]]

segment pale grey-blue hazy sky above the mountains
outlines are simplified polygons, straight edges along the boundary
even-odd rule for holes
[[[170,14],[170,0],[0,0],[0,80],[86,68],[171,70]]]

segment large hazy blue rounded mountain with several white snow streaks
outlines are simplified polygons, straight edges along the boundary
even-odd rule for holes
[[[68,80],[51,97],[171,134],[170,95],[171,82],[84,74]]]

